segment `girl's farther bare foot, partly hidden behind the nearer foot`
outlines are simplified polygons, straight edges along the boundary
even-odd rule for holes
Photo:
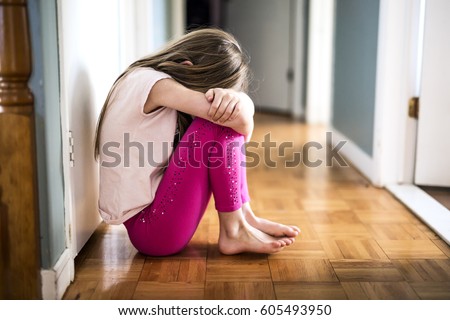
[[[300,234],[300,229],[296,226],[287,226],[281,223],[273,222],[267,219],[255,216],[250,203],[246,202],[242,205],[245,220],[254,228],[265,232],[274,237],[296,237]]]

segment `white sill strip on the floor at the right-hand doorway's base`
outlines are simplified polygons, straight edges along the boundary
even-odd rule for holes
[[[450,245],[450,211],[446,207],[415,185],[395,184],[386,189]]]

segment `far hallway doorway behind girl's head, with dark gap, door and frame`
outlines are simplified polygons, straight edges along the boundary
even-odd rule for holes
[[[250,58],[249,95],[257,110],[301,118],[307,4],[305,0],[188,0],[186,28],[220,27],[233,34]]]

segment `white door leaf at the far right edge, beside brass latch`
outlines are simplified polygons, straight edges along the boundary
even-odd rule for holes
[[[450,1],[426,1],[415,184],[450,187]]]

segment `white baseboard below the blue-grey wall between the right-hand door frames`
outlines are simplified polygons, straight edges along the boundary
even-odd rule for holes
[[[375,163],[373,158],[336,128],[330,126],[328,129],[333,133],[333,146],[339,143],[339,141],[346,141],[342,149],[339,150],[339,153],[346,160],[350,161],[352,166],[359,170],[370,182],[374,183]]]

